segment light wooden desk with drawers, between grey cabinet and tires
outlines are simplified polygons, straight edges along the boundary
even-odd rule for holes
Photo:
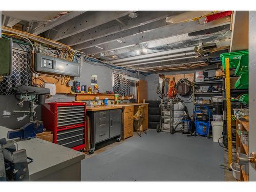
[[[144,108],[144,118],[140,131],[146,131],[148,129],[148,103],[120,103],[115,106],[121,106],[122,110],[122,140],[133,136],[134,131],[134,121],[133,116],[138,115],[139,106],[145,105]],[[137,124],[135,125],[137,126]]]

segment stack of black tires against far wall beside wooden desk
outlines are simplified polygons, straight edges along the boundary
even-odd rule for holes
[[[148,128],[150,129],[157,129],[160,127],[160,118],[161,118],[161,111],[160,111],[160,100],[146,100],[148,104]]]

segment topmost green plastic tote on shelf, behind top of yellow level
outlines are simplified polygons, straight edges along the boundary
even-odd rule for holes
[[[229,67],[230,67],[230,69],[234,69],[238,66],[238,63],[239,63],[242,55],[245,55],[245,54],[248,55],[248,50],[220,54],[220,59],[222,62],[223,70],[226,69],[225,58],[229,58]]]

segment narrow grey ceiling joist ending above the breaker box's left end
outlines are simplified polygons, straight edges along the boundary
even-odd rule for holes
[[[52,21],[52,22],[47,22],[46,24],[41,24],[39,26],[34,27],[33,29],[31,29],[31,33],[38,35],[40,33],[43,33],[51,28],[54,28],[60,24],[63,24],[65,22],[67,22],[68,20],[84,13],[86,11],[71,11],[70,13],[60,16],[58,19]]]

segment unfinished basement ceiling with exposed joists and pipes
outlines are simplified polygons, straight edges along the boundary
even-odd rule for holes
[[[179,66],[190,68],[227,52],[227,46],[220,47],[198,57],[194,47],[230,39],[230,16],[205,24],[206,11],[136,11],[136,18],[131,18],[131,13],[3,11],[2,23],[8,27],[23,24],[24,31],[59,41],[111,65],[143,73]],[[202,17],[195,19],[193,15]],[[167,23],[166,17],[175,22]]]

